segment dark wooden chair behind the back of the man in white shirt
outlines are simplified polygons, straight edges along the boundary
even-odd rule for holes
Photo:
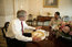
[[[10,45],[11,45],[12,43],[11,43],[11,40],[6,36],[6,32],[8,31],[8,26],[9,26],[9,22],[6,22],[6,23],[4,23],[4,26],[1,28],[1,31],[2,31],[3,38],[6,38],[7,46],[10,47]]]

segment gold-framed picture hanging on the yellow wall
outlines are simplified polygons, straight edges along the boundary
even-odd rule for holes
[[[44,8],[58,8],[59,0],[43,0]]]

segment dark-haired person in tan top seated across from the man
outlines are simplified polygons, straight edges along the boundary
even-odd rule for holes
[[[54,17],[53,19],[51,19],[51,22],[50,22],[50,36],[53,36],[54,35],[54,32],[53,32],[53,30],[58,30],[58,24],[60,24],[61,23],[61,16],[60,16],[60,12],[55,12],[54,13]],[[55,27],[56,26],[56,27]]]

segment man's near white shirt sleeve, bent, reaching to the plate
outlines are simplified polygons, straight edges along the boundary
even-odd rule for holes
[[[25,37],[22,35],[21,31],[19,30],[18,24],[16,23],[12,23],[12,32],[18,40],[32,42],[32,37]]]

